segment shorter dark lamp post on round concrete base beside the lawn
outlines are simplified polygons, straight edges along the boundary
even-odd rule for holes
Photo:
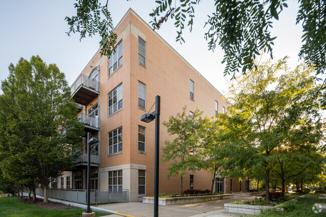
[[[93,137],[89,132],[87,133],[87,209],[82,213],[82,217],[95,216],[95,212],[92,212],[90,207],[90,195],[91,195],[91,144],[99,142],[97,138]]]

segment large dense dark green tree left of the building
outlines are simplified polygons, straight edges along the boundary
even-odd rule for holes
[[[0,154],[6,156],[1,164],[8,165],[1,168],[6,173],[17,162],[20,175],[41,184],[47,202],[51,177],[70,169],[81,149],[83,124],[55,64],[47,65],[39,56],[21,58],[16,66],[10,64],[9,73],[1,85]]]

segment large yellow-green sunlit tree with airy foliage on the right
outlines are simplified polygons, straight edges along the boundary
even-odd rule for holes
[[[230,88],[233,104],[229,107],[229,127],[240,129],[230,130],[233,134],[230,138],[236,138],[230,143],[235,146],[234,150],[248,150],[251,154],[249,158],[247,154],[229,156],[227,166],[231,170],[251,166],[251,170],[264,168],[266,198],[269,200],[269,174],[278,163],[278,151],[283,146],[294,145],[293,141],[284,142],[284,139],[294,128],[298,129],[298,135],[311,134],[313,127],[300,124],[308,123],[305,120],[320,109],[320,104],[314,110],[298,110],[292,121],[284,120],[293,111],[292,106],[296,102],[310,98],[319,87],[313,84],[313,68],[301,64],[294,71],[289,71],[286,58],[277,64],[267,61],[256,68],[237,78]],[[284,74],[278,78],[276,75],[279,72]],[[275,83],[276,88],[273,90],[271,86]],[[316,127],[320,130],[320,123]],[[306,129],[310,131],[306,132]],[[311,142],[311,145],[315,143]]]

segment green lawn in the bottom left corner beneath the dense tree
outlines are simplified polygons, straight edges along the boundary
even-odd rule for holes
[[[80,217],[85,209],[46,209],[29,205],[16,197],[0,197],[0,216],[7,217]],[[96,212],[96,216],[108,213]]]

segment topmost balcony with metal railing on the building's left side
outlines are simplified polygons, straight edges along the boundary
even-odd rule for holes
[[[100,83],[85,75],[80,75],[71,86],[71,96],[78,104],[89,104],[99,93]]]

